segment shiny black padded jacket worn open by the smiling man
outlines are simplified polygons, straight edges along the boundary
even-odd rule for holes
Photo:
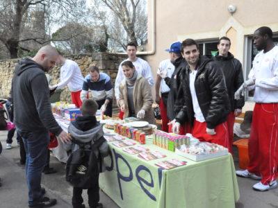
[[[199,107],[206,120],[207,128],[215,128],[216,125],[227,120],[227,114],[231,111],[224,75],[215,62],[205,56],[200,58],[197,70],[195,92]],[[177,114],[176,120],[179,123],[188,122],[193,125],[195,118],[189,87],[189,73],[189,66],[179,73],[181,83],[179,93],[183,94],[183,107]]]

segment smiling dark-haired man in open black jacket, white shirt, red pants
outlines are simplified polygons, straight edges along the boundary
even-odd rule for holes
[[[179,92],[184,103],[173,132],[178,132],[181,123],[188,122],[193,127],[193,137],[229,148],[226,119],[231,107],[221,69],[213,60],[199,56],[195,40],[182,42],[181,55],[188,66],[179,73]]]

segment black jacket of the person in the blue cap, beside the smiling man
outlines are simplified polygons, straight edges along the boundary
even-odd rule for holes
[[[174,72],[172,73],[171,78],[165,78],[165,83],[170,88],[170,92],[168,94],[167,99],[167,117],[170,121],[174,120],[174,118],[177,116],[179,111],[181,110],[181,107],[183,106],[183,103],[180,103],[180,99],[177,99],[177,96],[179,95],[179,79],[177,74],[181,69],[186,67],[187,63],[184,58],[180,57],[177,58],[177,60],[174,61]]]

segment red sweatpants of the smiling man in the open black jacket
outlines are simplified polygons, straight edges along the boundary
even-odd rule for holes
[[[220,123],[215,127],[216,135],[208,135],[206,133],[206,122],[199,122],[195,119],[192,135],[193,137],[199,139],[199,141],[208,141],[210,143],[219,144],[229,149],[231,153],[231,148],[229,146],[227,123]]]

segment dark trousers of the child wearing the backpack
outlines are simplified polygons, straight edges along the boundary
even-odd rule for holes
[[[88,189],[88,203],[90,207],[97,207],[97,204],[99,203],[99,176],[96,178],[97,183]],[[82,205],[83,198],[82,198],[82,191],[83,189],[74,187],[73,189],[73,195],[72,195],[72,206],[78,207]]]

